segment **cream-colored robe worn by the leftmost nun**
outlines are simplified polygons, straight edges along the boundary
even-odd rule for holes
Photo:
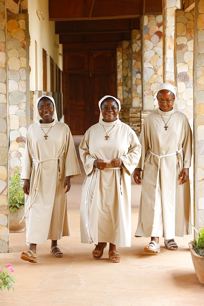
[[[47,133],[47,140],[42,129]],[[39,163],[32,159],[60,159],[59,179],[58,161],[42,162],[40,184],[37,196],[26,219],[27,243],[44,244],[47,239],[58,240],[69,236],[69,218],[67,213],[67,194],[63,185],[66,176],[79,175],[80,169],[69,127],[54,120],[49,124],[31,124],[27,131],[22,179],[30,180],[30,193],[25,195],[25,211],[30,204],[31,192],[34,185]],[[37,183],[35,184],[35,188]],[[35,192],[34,192],[35,195]]]

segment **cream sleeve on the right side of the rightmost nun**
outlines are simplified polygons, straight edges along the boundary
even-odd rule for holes
[[[192,155],[192,131],[187,118],[184,124],[184,139],[182,142],[182,147],[184,153],[183,167],[190,168]]]

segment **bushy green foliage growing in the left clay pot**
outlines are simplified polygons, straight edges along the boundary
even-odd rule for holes
[[[11,212],[24,207],[25,194],[23,185],[24,182],[20,179],[20,169],[16,167],[13,177],[9,178],[9,210]]]

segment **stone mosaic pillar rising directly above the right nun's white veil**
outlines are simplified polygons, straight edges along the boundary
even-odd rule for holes
[[[175,9],[180,9],[180,0],[163,0],[163,80],[175,86],[174,80],[174,31]]]

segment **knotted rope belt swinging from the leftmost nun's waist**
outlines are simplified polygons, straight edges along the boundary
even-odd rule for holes
[[[33,184],[33,189],[32,189],[32,192],[31,192],[31,199],[30,199],[30,204],[29,204],[29,207],[27,209],[27,211],[25,212],[24,216],[22,217],[22,219],[20,220],[20,222],[22,222],[23,220],[25,220],[28,215],[29,215],[29,212],[30,212],[30,209],[31,209],[31,206],[33,205],[33,202],[37,196],[37,193],[38,193],[38,187],[39,187],[39,184],[40,184],[40,176],[41,176],[41,167],[42,167],[42,162],[47,162],[49,160],[58,160],[58,164],[57,164],[57,167],[58,167],[58,171],[59,171],[59,177],[60,177],[60,182],[61,182],[61,175],[60,175],[60,159],[62,159],[63,157],[57,157],[57,158],[48,158],[48,159],[42,159],[42,160],[38,160],[38,159],[33,159],[33,162],[38,162],[39,163],[39,167],[38,167],[38,171],[37,171],[37,174],[35,176],[35,180],[34,180],[34,184]],[[35,183],[38,179],[38,182],[37,182],[37,187],[35,188]],[[34,194],[34,191],[35,191],[35,196],[33,198],[33,194]],[[33,199],[32,199],[33,198]],[[19,222],[19,223],[20,223]]]

